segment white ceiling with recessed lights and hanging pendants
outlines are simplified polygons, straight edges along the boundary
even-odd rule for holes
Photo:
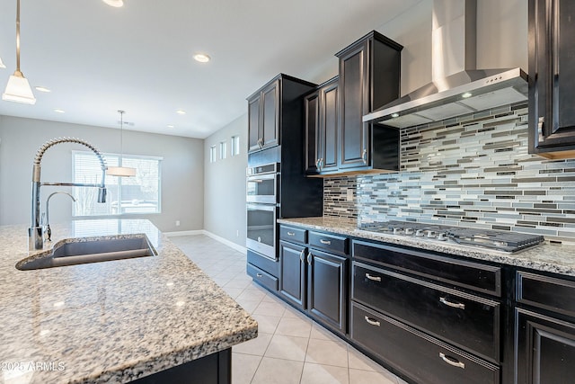
[[[206,138],[279,73],[327,80],[334,53],[420,1],[22,0],[22,73],[52,92],[0,101],[0,115],[119,128],[121,109],[125,129]],[[16,0],[0,2],[0,92],[15,69],[15,14]]]

